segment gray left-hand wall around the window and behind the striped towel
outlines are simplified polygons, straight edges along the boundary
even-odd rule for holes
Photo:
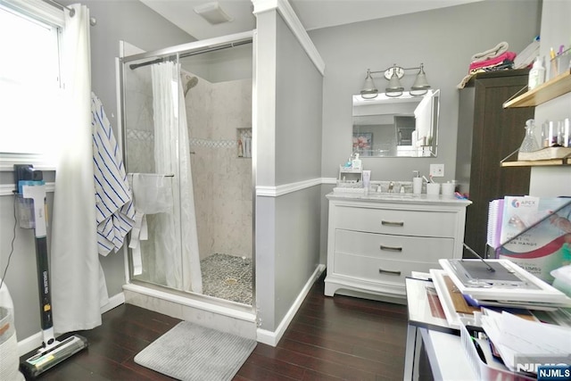
[[[62,2],[62,4],[72,3],[76,2]],[[86,4],[90,15],[97,20],[97,24],[90,30],[92,88],[102,100],[107,117],[117,134],[115,57],[119,56],[119,41],[128,41],[142,49],[154,50],[192,42],[195,38],[136,0],[85,0],[81,4]],[[147,30],[153,30],[153,33],[145,32]],[[53,182],[54,172],[46,172],[45,178]],[[0,173],[0,186],[12,183],[12,172]],[[47,203],[48,211],[51,211],[53,194],[48,194]],[[8,261],[12,240],[12,209],[13,197],[0,196],[0,269],[3,270]],[[122,291],[121,286],[125,283],[123,254],[110,254],[100,259],[109,295],[119,294]],[[22,340],[40,330],[35,247],[31,230],[16,228],[14,253],[5,280],[14,301],[18,339]]]

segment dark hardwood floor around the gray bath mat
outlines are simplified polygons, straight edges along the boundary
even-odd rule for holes
[[[407,311],[398,304],[323,294],[312,286],[285,335],[258,343],[235,380],[401,380]],[[169,380],[133,358],[180,320],[124,304],[103,325],[79,332],[89,342],[40,380]]]

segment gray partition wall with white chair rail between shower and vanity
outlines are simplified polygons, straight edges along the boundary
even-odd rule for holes
[[[320,178],[322,76],[279,13],[257,19],[256,186]],[[320,196],[320,187],[311,186],[256,197],[256,302],[263,329],[277,328],[319,265]]]

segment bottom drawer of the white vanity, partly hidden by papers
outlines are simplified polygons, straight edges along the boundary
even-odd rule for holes
[[[382,258],[335,253],[334,273],[344,277],[353,277],[379,283],[401,283],[410,277],[411,271],[429,272],[439,269],[436,263],[392,261]]]

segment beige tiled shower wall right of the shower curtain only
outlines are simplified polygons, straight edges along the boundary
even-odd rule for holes
[[[252,127],[252,79],[199,79],[186,95],[201,259],[252,258],[252,159],[237,155],[237,128]]]

